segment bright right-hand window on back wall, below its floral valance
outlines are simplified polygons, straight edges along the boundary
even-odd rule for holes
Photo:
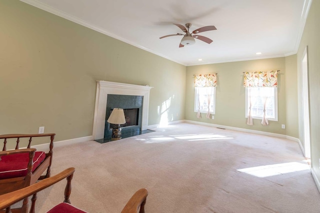
[[[251,101],[252,118],[262,119],[263,101],[266,97],[265,116],[270,121],[277,121],[277,87],[246,87],[245,88],[245,117]]]

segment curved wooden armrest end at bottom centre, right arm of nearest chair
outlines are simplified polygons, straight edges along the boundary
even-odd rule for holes
[[[136,191],[130,200],[126,203],[121,213],[137,213],[140,207],[140,213],[144,213],[144,204],[146,196],[148,195],[147,189],[139,189]]]

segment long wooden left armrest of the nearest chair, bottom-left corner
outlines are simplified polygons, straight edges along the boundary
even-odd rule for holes
[[[74,168],[68,168],[62,172],[60,172],[59,174],[52,176],[50,178],[46,178],[36,184],[33,184],[29,187],[14,191],[14,192],[10,192],[4,195],[0,195],[0,210],[5,209],[9,206],[11,206],[12,204],[27,198],[59,181],[61,181],[62,179],[66,178],[66,177],[72,177],[74,173]],[[69,189],[70,190],[70,189]]]

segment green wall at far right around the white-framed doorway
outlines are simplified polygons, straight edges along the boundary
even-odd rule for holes
[[[313,0],[304,31],[297,52],[298,76],[301,75],[301,58],[305,46],[308,46],[308,78],[309,78],[309,108],[310,108],[310,140],[311,140],[311,167],[315,175],[317,186],[320,190],[320,1]],[[298,82],[299,83],[299,82]],[[299,97],[301,96],[300,86],[298,87]],[[302,138],[303,115],[299,101],[299,139]]]

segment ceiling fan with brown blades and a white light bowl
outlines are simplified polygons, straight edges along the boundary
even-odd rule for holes
[[[194,38],[197,38],[201,41],[204,41],[206,43],[211,43],[212,40],[210,38],[207,38],[207,37],[204,37],[202,35],[192,35],[192,34],[197,34],[199,32],[205,32],[205,31],[209,31],[209,30],[215,30],[215,26],[211,25],[211,26],[203,26],[203,27],[200,27],[198,29],[195,29],[193,30],[191,33],[189,32],[189,28],[191,26],[190,23],[186,23],[185,24],[185,28],[183,25],[181,24],[178,24],[178,23],[174,23],[174,25],[176,25],[177,27],[179,27],[183,32],[185,32],[185,34],[181,34],[181,33],[176,33],[176,34],[171,34],[171,35],[164,35],[162,37],[159,37],[160,39],[161,38],[165,38],[165,37],[168,37],[168,36],[173,36],[173,35],[183,35],[183,38],[181,39],[181,42],[179,44],[179,47],[183,47],[185,45],[191,45],[191,44],[194,44],[195,43],[195,40]]]

